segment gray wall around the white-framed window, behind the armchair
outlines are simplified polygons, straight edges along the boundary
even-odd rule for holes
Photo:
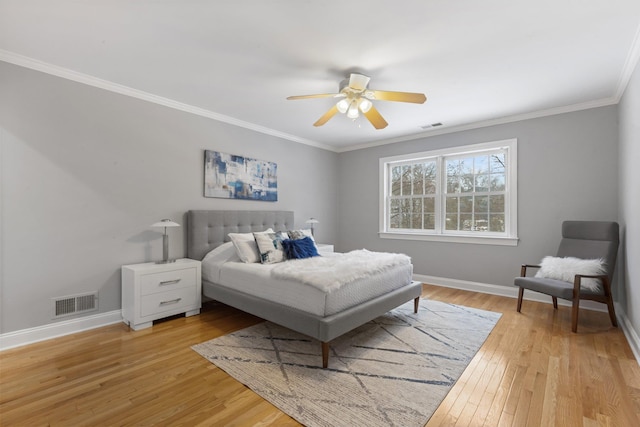
[[[342,153],[336,246],[404,252],[417,274],[512,286],[522,263],[555,253],[563,220],[617,220],[616,114],[603,107]],[[379,158],[509,138],[518,139],[516,247],[378,237]]]

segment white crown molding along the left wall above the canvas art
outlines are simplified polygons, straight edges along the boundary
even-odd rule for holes
[[[110,92],[118,93],[120,95],[130,96],[143,101],[152,102],[154,104],[162,105],[164,107],[173,108],[174,110],[184,111],[186,113],[195,114],[209,119],[217,120],[219,122],[228,123],[230,125],[238,126],[241,128],[249,129],[255,132],[259,132],[265,135],[275,136],[277,138],[286,139],[289,141],[297,142],[300,144],[309,145],[315,148],[321,148],[324,150],[335,151],[334,147],[322,144],[320,142],[311,141],[308,139],[300,138],[295,135],[280,132],[265,126],[260,126],[254,123],[245,122],[235,117],[219,114],[214,111],[206,110],[204,108],[195,107],[193,105],[178,102],[173,99],[165,98],[162,96],[154,95],[152,93],[144,92],[138,89],[134,89],[128,86],[124,86],[118,83],[114,83],[108,80],[100,79],[88,74],[79,73],[77,71],[70,70],[68,68],[59,67],[57,65],[49,64],[47,62],[39,61],[37,59],[29,58],[27,56],[19,55],[17,53],[9,52],[0,49],[0,61],[8,62],[10,64],[18,65],[20,67],[29,68],[31,70],[40,71],[45,74],[50,74],[63,79],[71,80],[77,83],[82,83],[88,86],[93,86],[99,89],[108,90]]]

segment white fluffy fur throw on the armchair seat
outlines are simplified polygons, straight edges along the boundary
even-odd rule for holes
[[[576,274],[596,276],[606,274],[603,259],[558,258],[547,256],[542,259],[535,277],[562,280],[573,283]],[[582,279],[580,287],[593,292],[600,290],[599,279]]]

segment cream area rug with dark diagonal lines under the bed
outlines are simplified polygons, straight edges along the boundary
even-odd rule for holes
[[[423,426],[498,322],[493,313],[413,301],[331,342],[263,322],[192,348],[298,422]]]

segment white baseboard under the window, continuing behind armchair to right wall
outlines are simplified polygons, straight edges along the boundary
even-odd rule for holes
[[[487,283],[470,282],[466,280],[447,279],[445,277],[426,276],[422,274],[414,274],[413,280],[418,280],[423,283],[430,283],[437,286],[443,286],[445,288],[461,289],[465,291],[480,292],[483,294],[499,295],[509,298],[518,298],[518,288],[516,286],[499,286],[491,285]],[[551,297],[538,292],[525,292],[524,299],[529,301],[544,302],[551,304]],[[570,307],[571,303],[567,300],[558,299],[558,305]],[[581,301],[580,308],[588,310],[604,311],[606,312],[606,305],[600,304],[595,301]],[[618,319],[618,325],[622,329],[624,336],[629,342],[631,351],[636,357],[638,364],[640,364],[640,337],[633,328],[633,325],[627,317],[627,313],[622,309],[622,306],[615,303],[616,318]],[[516,309],[514,302],[513,309]]]

